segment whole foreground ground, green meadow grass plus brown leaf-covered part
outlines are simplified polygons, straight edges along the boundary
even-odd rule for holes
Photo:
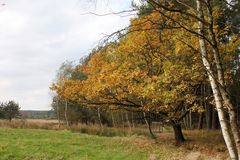
[[[226,160],[217,131],[185,131],[174,144],[172,133],[101,137],[62,130],[0,128],[0,160]]]

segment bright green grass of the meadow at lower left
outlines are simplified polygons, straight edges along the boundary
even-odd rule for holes
[[[144,149],[117,138],[70,131],[0,128],[0,160],[146,160]]]

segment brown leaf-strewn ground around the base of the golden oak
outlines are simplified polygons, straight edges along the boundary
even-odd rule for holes
[[[131,143],[129,150],[141,146],[150,159],[227,160],[228,153],[220,131],[185,131],[186,142],[176,146],[173,133],[160,133],[157,139],[145,136],[114,137],[119,143]],[[158,156],[157,156],[158,155]],[[161,158],[158,158],[161,157]]]

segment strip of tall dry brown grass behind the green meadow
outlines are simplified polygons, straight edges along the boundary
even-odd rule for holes
[[[10,128],[32,128],[32,129],[51,129],[51,130],[71,130],[72,132],[85,133],[99,136],[129,136],[129,135],[148,135],[145,128],[110,128],[100,127],[99,125],[74,124],[66,126],[64,123],[58,125],[57,120],[44,119],[14,119],[12,121],[0,120],[0,127]]]

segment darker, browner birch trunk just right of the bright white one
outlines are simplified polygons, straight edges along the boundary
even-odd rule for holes
[[[232,134],[234,136],[234,140],[237,145],[238,155],[240,155],[240,132],[238,130],[238,124],[237,124],[237,112],[236,112],[236,108],[234,107],[230,98],[228,97],[228,93],[226,92],[220,51],[218,48],[216,34],[213,29],[214,28],[214,18],[213,18],[213,10],[212,10],[210,2],[208,2],[208,17],[210,20],[209,35],[211,38],[211,42],[213,43],[212,50],[213,50],[214,61],[215,61],[216,68],[217,68],[217,76],[218,76],[218,81],[219,81],[218,85],[219,85],[219,89],[220,89],[224,104],[228,108],[228,114],[229,114],[229,118],[230,118]]]

